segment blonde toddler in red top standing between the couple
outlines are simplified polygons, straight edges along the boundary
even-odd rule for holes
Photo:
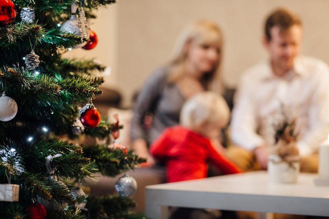
[[[166,128],[150,146],[150,153],[167,168],[168,182],[207,177],[207,162],[223,174],[240,173],[240,168],[212,144],[230,117],[223,98],[201,92],[185,102],[180,125]]]

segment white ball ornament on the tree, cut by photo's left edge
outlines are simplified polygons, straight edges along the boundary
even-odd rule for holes
[[[0,120],[12,120],[17,113],[17,103],[10,97],[3,94],[0,97]]]

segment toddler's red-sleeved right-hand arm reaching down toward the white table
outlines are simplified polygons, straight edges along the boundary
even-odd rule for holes
[[[241,173],[240,167],[228,159],[224,154],[218,153],[212,144],[208,145],[208,159],[224,174]]]

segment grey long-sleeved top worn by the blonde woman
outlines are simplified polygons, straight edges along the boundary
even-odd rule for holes
[[[185,102],[176,84],[167,83],[168,67],[157,69],[140,90],[131,123],[131,140],[139,138],[153,142],[168,126],[179,123],[180,110]],[[143,127],[144,116],[153,115],[149,130]]]

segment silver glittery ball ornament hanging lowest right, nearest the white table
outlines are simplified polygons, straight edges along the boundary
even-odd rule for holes
[[[114,187],[119,195],[128,197],[136,192],[137,182],[133,177],[124,174],[116,181]]]

